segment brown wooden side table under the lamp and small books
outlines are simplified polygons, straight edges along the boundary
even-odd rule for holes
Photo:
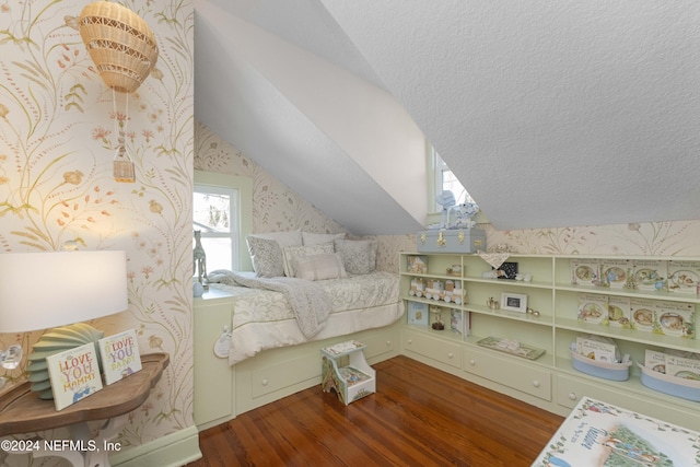
[[[168,365],[166,353],[141,355],[142,370],[104,388],[72,406],[56,411],[52,400],[39,399],[30,390],[30,383],[13,387],[0,396],[0,436],[34,433],[67,427],[72,440],[56,441],[32,439],[35,443],[8,444],[3,437],[3,451],[10,454],[31,453],[34,457],[57,456],[73,466],[108,467],[109,443],[128,420],[128,413],[148,399],[163,370]],[[91,434],[88,422],[106,420],[96,434]],[[25,447],[24,451],[15,447]]]

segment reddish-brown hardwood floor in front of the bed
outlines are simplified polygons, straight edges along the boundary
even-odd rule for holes
[[[188,466],[529,466],[563,421],[407,357],[374,369],[347,407],[312,387],[201,432]]]

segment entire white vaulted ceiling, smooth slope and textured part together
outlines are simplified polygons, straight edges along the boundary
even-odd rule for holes
[[[700,219],[700,3],[195,0],[196,117],[357,234]]]

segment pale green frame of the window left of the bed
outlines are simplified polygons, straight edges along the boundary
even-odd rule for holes
[[[194,188],[200,192],[226,192],[235,197],[237,212],[232,213],[231,233],[202,232],[202,237],[231,236],[231,267],[252,271],[253,262],[246,247],[246,236],[253,232],[253,178],[214,172],[195,171]],[[233,198],[232,198],[233,201]],[[232,207],[234,202],[232,202]],[[194,226],[192,226],[192,230]]]

